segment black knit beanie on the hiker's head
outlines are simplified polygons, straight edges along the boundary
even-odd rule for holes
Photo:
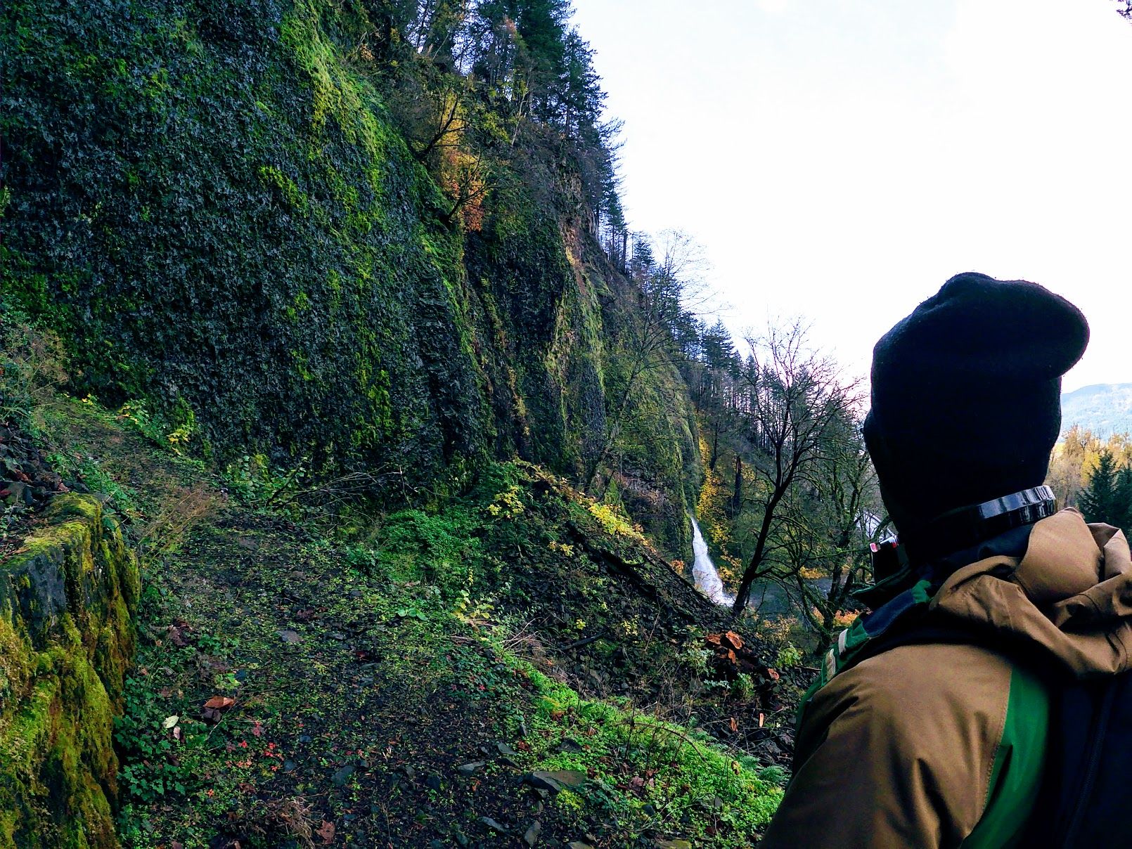
[[[873,349],[865,443],[901,537],[1045,480],[1089,325],[1036,283],[959,274]]]

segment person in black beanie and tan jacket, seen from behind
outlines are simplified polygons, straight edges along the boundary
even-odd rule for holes
[[[804,700],[763,849],[1054,844],[1026,832],[1063,813],[1060,694],[1132,664],[1124,534],[1043,487],[1088,337],[1065,299],[968,273],[877,342],[865,440],[901,546]]]

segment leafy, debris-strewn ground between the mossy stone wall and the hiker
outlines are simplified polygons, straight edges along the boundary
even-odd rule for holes
[[[316,523],[189,488],[129,421],[79,413],[61,455],[151,529],[127,846],[757,841],[781,684],[707,677],[724,620],[610,508],[505,465]]]

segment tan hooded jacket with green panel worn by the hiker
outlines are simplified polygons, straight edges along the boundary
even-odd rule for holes
[[[1077,677],[1132,666],[1129,544],[1073,509],[1038,522],[1021,559],[953,573],[928,609],[1029,643]],[[942,643],[832,676],[806,706],[795,775],[760,846],[1011,846],[1041,779],[1046,686],[993,648]]]

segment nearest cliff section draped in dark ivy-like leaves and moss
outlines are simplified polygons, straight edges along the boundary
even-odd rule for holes
[[[311,2],[3,11],[3,285],[86,389],[220,451],[435,471],[482,441],[443,200]]]

